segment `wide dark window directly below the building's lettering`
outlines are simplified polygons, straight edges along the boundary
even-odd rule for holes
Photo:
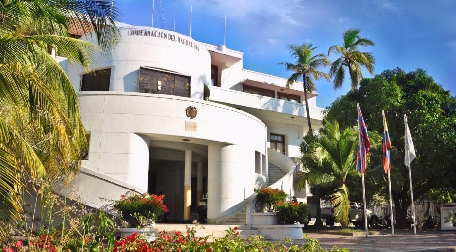
[[[190,97],[190,77],[141,67],[139,92]]]

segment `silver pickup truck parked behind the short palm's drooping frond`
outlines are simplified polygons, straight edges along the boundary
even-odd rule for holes
[[[309,205],[310,217],[316,218],[317,210],[316,205]],[[350,222],[352,222],[355,227],[362,225],[364,218],[364,206],[357,202],[350,202]],[[332,207],[321,207],[322,218],[325,218],[326,226],[334,225],[334,209]],[[380,217],[378,214],[367,209],[367,221],[372,228],[377,228],[380,223]]]

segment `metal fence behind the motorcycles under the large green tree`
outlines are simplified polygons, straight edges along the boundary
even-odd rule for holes
[[[443,205],[456,205],[456,203],[441,203],[441,202],[415,202],[415,215],[418,218],[427,218],[429,215],[438,216],[437,207]],[[396,209],[394,208],[394,203],[392,205],[394,214]],[[367,209],[374,211],[379,215],[389,215],[390,214],[390,203],[381,203],[375,205],[368,205]],[[412,211],[412,206],[408,207],[408,211]]]

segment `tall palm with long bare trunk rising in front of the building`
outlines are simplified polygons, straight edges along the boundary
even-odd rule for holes
[[[288,78],[286,87],[290,88],[299,79],[303,80],[304,87],[304,101],[306,103],[307,113],[307,124],[309,131],[312,131],[312,125],[310,123],[309,103],[307,101],[307,93],[311,94],[315,91],[314,80],[320,80],[324,78],[329,80],[328,74],[319,71],[322,67],[327,67],[331,64],[325,54],[313,55],[313,51],[318,47],[313,47],[313,44],[304,43],[302,46],[288,45],[292,58],[295,63],[278,63],[279,65],[285,64],[287,71],[293,71],[294,73]]]

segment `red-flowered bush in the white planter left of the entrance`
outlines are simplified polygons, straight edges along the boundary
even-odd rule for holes
[[[158,217],[168,212],[163,205],[164,195],[135,193],[122,195],[120,200],[114,200],[113,208],[121,213],[121,219],[130,227],[146,227],[160,221]]]

